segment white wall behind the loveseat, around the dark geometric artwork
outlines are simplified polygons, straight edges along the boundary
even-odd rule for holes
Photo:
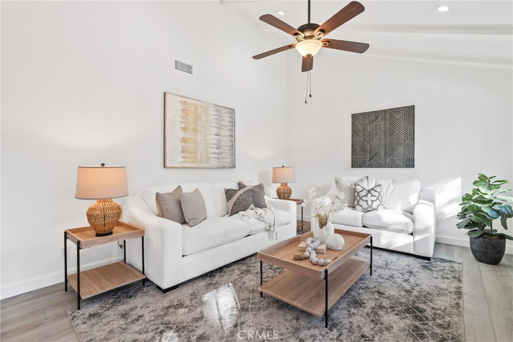
[[[305,104],[301,59],[288,58],[293,197],[305,198],[306,189],[318,183],[324,195],[335,176],[419,179],[423,187],[437,190],[437,241],[468,245],[466,231],[455,226],[462,194],[471,190],[478,173],[513,181],[511,70],[323,49],[315,55],[311,75],[313,104]],[[351,168],[351,113],[407,105],[415,105],[415,168]],[[511,220],[509,227],[511,235]]]

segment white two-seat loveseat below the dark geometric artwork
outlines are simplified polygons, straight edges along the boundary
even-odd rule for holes
[[[378,248],[414,254],[430,259],[435,248],[435,191],[421,189],[418,180],[372,179],[343,177],[343,183],[359,183],[365,188],[381,186],[385,210],[358,212],[353,209],[353,193],[344,192],[348,207],[333,214],[331,223],[339,229],[372,234],[372,244]],[[326,197],[339,193],[342,186],[333,185]],[[352,190],[354,191],[354,190]]]

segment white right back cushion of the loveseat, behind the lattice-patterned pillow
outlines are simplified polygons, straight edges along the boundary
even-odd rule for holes
[[[413,213],[413,208],[419,202],[420,181],[415,179],[373,179],[362,181],[367,188],[381,184],[381,198],[387,209],[401,210]]]

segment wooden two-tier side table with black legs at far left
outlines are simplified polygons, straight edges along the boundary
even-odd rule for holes
[[[134,281],[146,279],[144,275],[144,228],[125,222],[119,222],[108,236],[96,236],[90,227],[67,229],[64,231],[64,290],[68,291],[68,281],[77,294],[77,309],[80,310],[80,299],[86,299],[107,292]],[[126,263],[126,240],[141,238],[143,251],[142,273]],[[76,273],[68,276],[67,240],[76,244]],[[118,261],[80,272],[80,250],[123,240],[123,261]]]

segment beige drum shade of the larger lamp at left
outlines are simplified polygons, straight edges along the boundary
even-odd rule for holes
[[[128,196],[125,166],[78,166],[77,199],[110,199]]]

